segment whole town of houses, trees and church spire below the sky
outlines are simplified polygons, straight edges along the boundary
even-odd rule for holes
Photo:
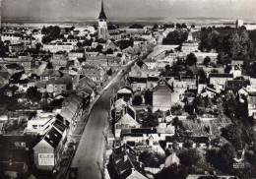
[[[256,25],[97,19],[2,24],[0,178],[255,179]]]

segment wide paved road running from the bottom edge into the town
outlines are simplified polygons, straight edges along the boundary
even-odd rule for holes
[[[129,70],[130,64],[124,69]],[[108,111],[110,108],[110,97],[113,89],[121,81],[124,73],[118,73],[112,85],[105,89],[105,92],[96,101],[92,109],[87,126],[81,138],[72,167],[78,167],[78,179],[101,179],[103,168],[103,153],[105,139],[104,128],[107,124]]]

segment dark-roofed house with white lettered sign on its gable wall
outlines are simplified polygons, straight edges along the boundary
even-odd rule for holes
[[[34,163],[38,169],[50,171],[60,160],[60,153],[67,138],[67,128],[61,123],[58,117],[49,132],[33,148]]]

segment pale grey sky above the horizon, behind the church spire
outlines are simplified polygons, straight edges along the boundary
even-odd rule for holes
[[[1,1],[1,0],[0,0]],[[104,0],[108,19],[225,18],[256,20],[256,0]],[[96,19],[100,0],[2,0],[2,17]]]

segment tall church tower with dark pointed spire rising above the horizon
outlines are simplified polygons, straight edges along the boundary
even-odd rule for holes
[[[107,38],[107,24],[106,24],[105,12],[104,12],[103,0],[101,0],[101,10],[98,16],[97,37],[102,39]]]

